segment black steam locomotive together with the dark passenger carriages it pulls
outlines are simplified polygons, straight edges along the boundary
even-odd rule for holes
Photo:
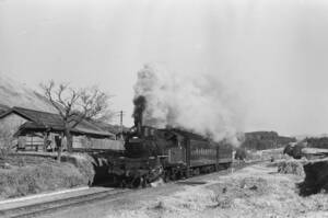
[[[229,168],[232,146],[177,129],[137,124],[125,139],[125,154],[114,161],[109,174],[121,187],[148,186]]]

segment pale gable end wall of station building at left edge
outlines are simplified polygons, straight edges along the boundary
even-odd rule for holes
[[[13,138],[13,135],[25,122],[27,122],[27,119],[16,114],[10,114],[0,119],[0,148],[17,144],[17,140]]]

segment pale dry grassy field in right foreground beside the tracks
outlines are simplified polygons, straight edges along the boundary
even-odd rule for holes
[[[327,194],[298,195],[296,184],[303,180],[304,175],[278,173],[272,164],[254,165],[226,176],[213,175],[207,184],[186,186],[168,196],[134,203],[133,209],[116,207],[107,218],[328,217]]]

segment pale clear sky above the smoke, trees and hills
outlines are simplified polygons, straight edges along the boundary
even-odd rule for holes
[[[327,41],[324,0],[0,0],[0,72],[98,84],[127,125],[138,70],[160,62],[227,81],[245,130],[328,133]]]

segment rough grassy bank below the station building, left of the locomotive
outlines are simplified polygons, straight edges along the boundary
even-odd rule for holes
[[[26,163],[24,167],[13,165],[9,170],[0,169],[0,198],[89,184],[90,179],[71,163],[57,163],[52,159],[33,158],[40,159],[43,162]],[[22,159],[22,157],[16,157],[16,159]]]

